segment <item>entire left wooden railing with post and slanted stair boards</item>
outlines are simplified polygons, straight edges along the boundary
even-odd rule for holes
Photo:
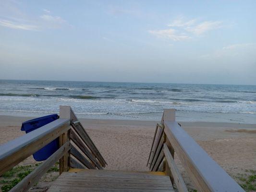
[[[0,176],[59,138],[59,149],[10,192],[28,191],[59,160],[60,174],[69,168],[102,169],[107,163],[69,106],[60,106],[60,119],[0,145]]]

